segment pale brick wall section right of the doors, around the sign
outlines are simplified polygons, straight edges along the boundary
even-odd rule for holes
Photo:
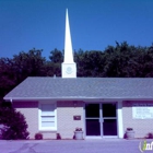
[[[153,102],[123,102],[122,103],[122,121],[123,131],[127,128],[133,128],[136,138],[144,138],[149,132],[153,133],[153,119],[133,119],[132,104],[153,104]]]

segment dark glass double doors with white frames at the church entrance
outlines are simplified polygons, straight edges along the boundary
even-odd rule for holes
[[[85,104],[86,136],[117,136],[116,103]]]

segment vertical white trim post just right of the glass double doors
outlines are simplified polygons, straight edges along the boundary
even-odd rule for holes
[[[123,138],[123,122],[122,122],[122,101],[118,101],[118,108],[117,108],[117,116],[118,116],[118,137]]]

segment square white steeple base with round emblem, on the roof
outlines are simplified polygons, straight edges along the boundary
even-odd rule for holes
[[[64,63],[61,66],[62,78],[76,78],[76,63]]]

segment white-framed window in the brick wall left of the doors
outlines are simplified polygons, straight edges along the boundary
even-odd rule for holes
[[[39,130],[57,130],[56,103],[39,104]]]

